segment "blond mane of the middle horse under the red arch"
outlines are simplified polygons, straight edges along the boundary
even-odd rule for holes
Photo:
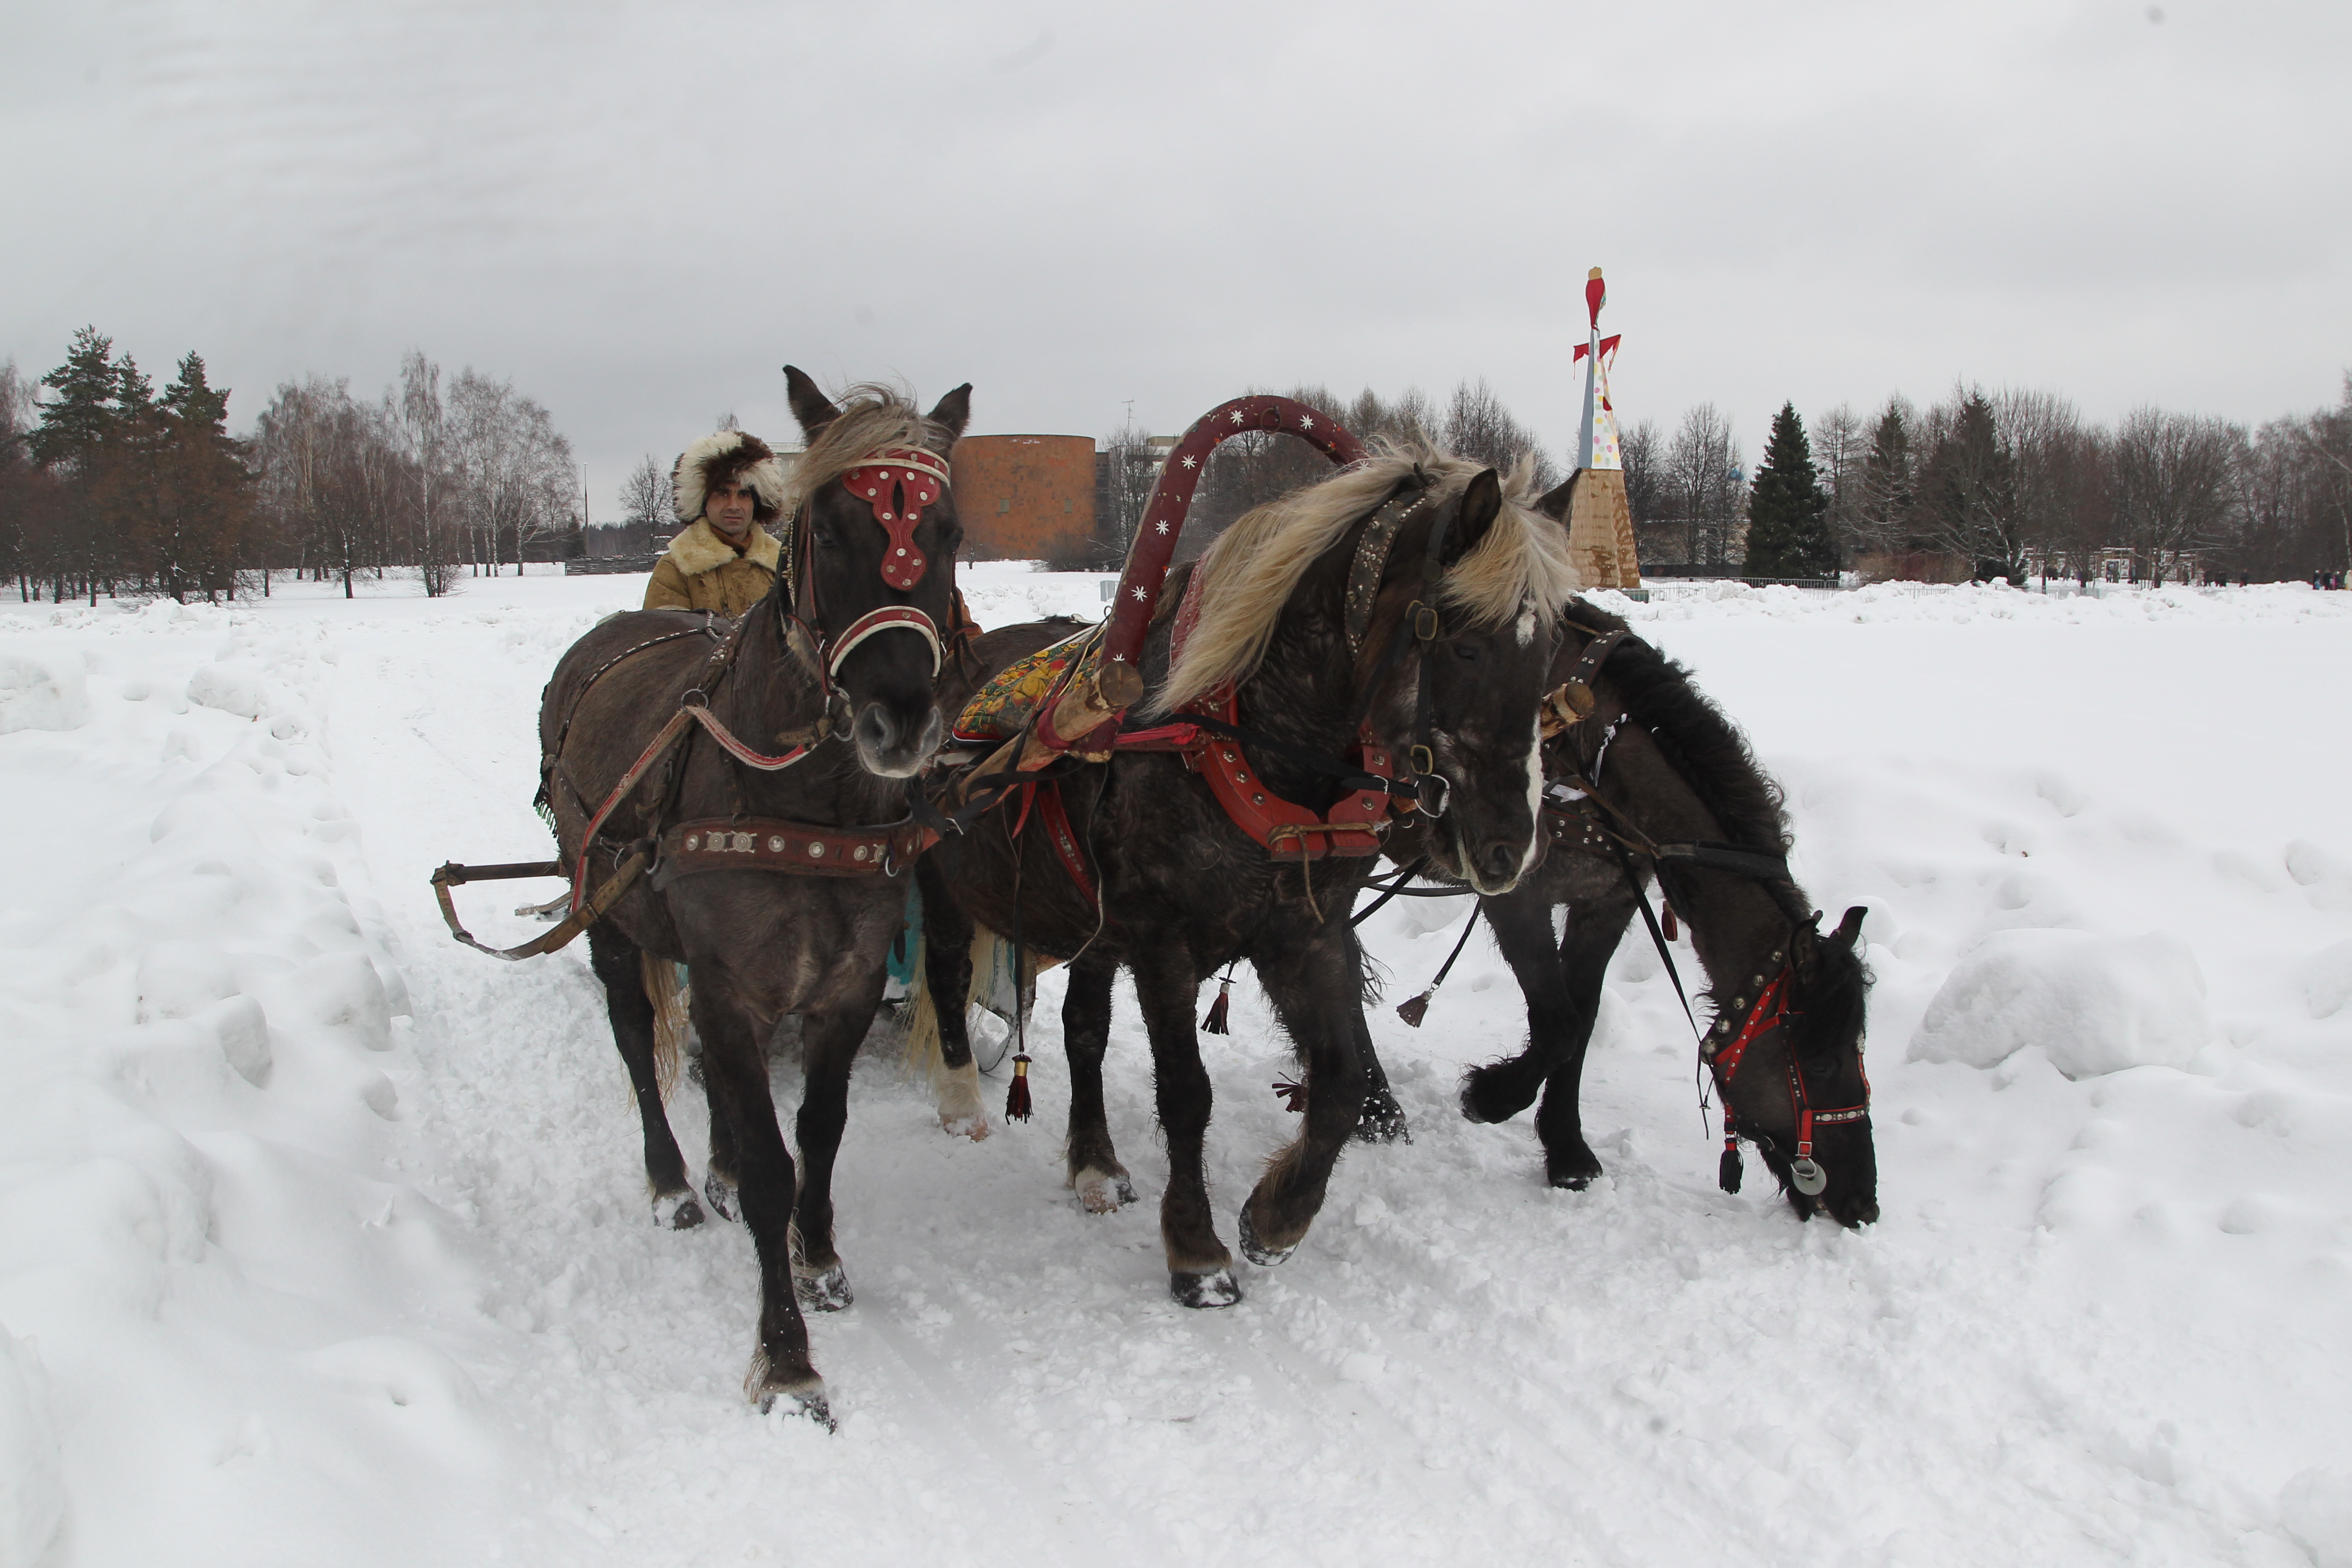
[[[1294,489],[1237,517],[1195,567],[1204,574],[1200,623],[1152,696],[1152,712],[1167,715],[1228,682],[1249,679],[1308,567],[1416,468],[1435,482],[1432,496],[1454,501],[1484,463],[1421,444],[1381,444],[1374,456],[1322,484]],[[1576,592],[1569,534],[1534,508],[1534,475],[1531,458],[1501,475],[1503,512],[1444,576],[1439,604],[1472,625],[1498,625],[1522,607],[1550,621]]]

